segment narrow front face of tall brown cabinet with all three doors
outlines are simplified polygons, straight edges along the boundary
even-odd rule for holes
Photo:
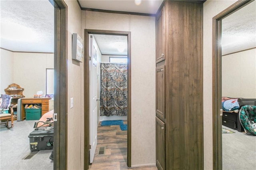
[[[156,14],[156,167],[166,168],[165,146],[165,18],[166,6],[162,4]]]

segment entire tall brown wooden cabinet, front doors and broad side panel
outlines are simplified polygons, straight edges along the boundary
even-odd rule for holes
[[[202,8],[165,0],[156,14],[158,170],[204,168]]]

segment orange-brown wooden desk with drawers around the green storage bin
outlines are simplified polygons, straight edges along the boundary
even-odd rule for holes
[[[21,121],[26,119],[25,105],[26,104],[42,104],[42,115],[49,111],[49,100],[52,98],[34,98],[34,97],[25,97],[21,100]],[[42,116],[41,115],[41,116]]]

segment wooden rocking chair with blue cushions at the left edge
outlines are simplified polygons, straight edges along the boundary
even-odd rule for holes
[[[13,127],[13,105],[10,105],[11,99],[9,95],[0,95],[0,121],[1,124],[5,124],[9,129]],[[11,126],[9,126],[9,121],[11,121]]]

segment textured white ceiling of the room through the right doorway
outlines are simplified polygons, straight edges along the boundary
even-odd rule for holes
[[[256,47],[256,1],[222,20],[222,55]]]

